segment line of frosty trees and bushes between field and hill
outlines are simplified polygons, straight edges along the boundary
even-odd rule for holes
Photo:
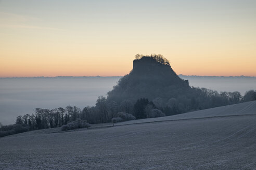
[[[0,123],[0,137],[25,131],[61,127],[78,120],[95,124],[111,122],[113,118],[145,119],[256,100],[256,91],[253,90],[247,91],[245,96],[241,96],[239,92],[219,93],[206,88],[194,88],[194,91],[200,95],[192,98],[186,96],[171,97],[167,102],[164,102],[161,97],[156,97],[152,101],[149,101],[148,98],[138,98],[136,102],[123,100],[117,103],[109,101],[104,96],[99,96],[95,106],[87,106],[83,110],[75,106],[51,110],[36,108],[33,114],[18,116],[13,125],[3,126]],[[129,115],[134,118],[125,118]]]

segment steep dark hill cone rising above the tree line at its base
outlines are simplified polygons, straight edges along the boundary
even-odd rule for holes
[[[142,97],[148,100],[161,97],[166,102],[190,90],[188,80],[178,77],[169,64],[143,56],[133,61],[131,73],[121,78],[117,86],[108,92],[108,100],[119,103],[123,100],[134,102]]]

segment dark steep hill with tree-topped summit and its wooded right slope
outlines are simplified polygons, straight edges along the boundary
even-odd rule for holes
[[[246,101],[237,91],[219,93],[206,88],[190,87],[188,80],[178,77],[169,61],[161,54],[137,54],[135,58],[130,74],[122,77],[117,86],[108,92],[107,103],[116,103],[120,110],[134,105],[136,112],[137,106],[141,105],[145,110],[147,105],[151,105],[148,108],[157,108],[165,115],[173,115]],[[251,91],[249,96],[254,93]]]

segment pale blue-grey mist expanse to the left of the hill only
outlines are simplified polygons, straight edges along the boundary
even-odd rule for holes
[[[1,78],[0,122],[12,124],[16,117],[35,108],[94,106],[120,77]]]

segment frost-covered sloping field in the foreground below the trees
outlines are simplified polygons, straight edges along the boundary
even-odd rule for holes
[[[2,137],[0,169],[256,169],[256,102],[214,109]]]

